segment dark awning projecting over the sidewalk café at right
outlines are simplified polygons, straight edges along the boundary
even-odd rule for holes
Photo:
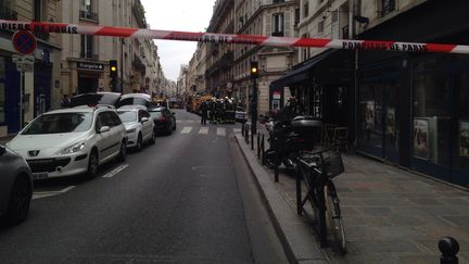
[[[282,77],[274,80],[270,84],[270,89],[279,89],[287,87],[291,84],[300,83],[303,80],[306,80],[310,78],[310,70],[317,65],[319,62],[331,55],[332,53],[337,52],[337,50],[327,50],[314,58],[312,58],[309,61],[304,62],[303,64],[297,65],[296,68],[293,68]]]

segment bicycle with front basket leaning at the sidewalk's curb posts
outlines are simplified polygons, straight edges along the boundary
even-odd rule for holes
[[[310,215],[304,208],[306,202],[315,214],[313,225],[322,248],[328,246],[327,227],[334,239],[341,254],[345,254],[346,240],[342,223],[340,200],[332,178],[344,172],[342,156],[334,146],[319,151],[302,151],[295,159],[296,163],[296,210],[299,215]],[[305,183],[307,193],[301,194],[301,181]]]

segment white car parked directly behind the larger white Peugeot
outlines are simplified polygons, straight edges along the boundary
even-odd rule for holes
[[[147,108],[125,105],[117,110],[127,130],[127,147],[140,151],[145,142],[155,142],[154,123]]]

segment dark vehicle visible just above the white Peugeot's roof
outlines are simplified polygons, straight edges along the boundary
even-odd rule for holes
[[[87,93],[80,93],[78,96],[72,97],[69,106],[71,108],[80,106],[80,105],[94,106],[98,104],[106,104],[106,105],[113,105],[117,108],[119,101],[121,101],[121,93],[118,92],[107,92],[107,91],[87,92]]]

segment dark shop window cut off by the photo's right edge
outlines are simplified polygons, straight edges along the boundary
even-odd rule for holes
[[[458,73],[452,77],[455,93],[453,166],[469,174],[469,73]]]

